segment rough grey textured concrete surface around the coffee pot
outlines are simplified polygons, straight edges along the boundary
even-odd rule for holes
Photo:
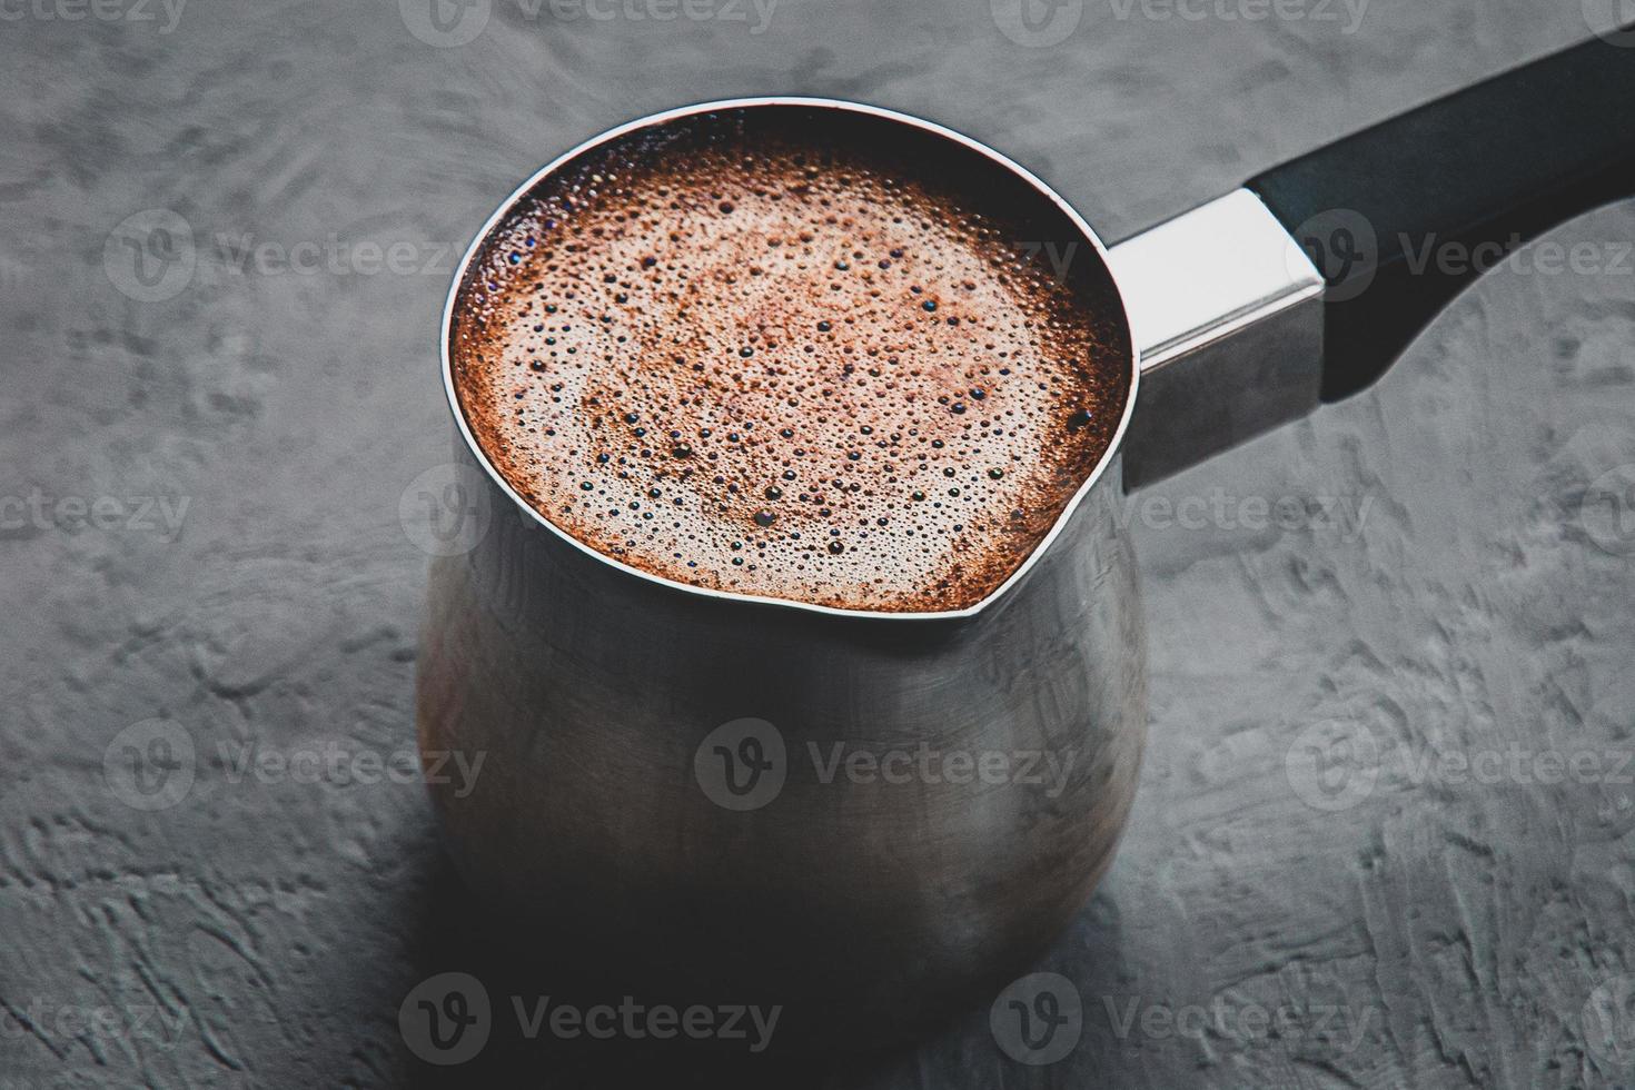
[[[397,1008],[473,936],[423,789],[235,760],[410,744],[399,500],[446,458],[438,307],[540,162],[679,103],[850,96],[996,144],[1118,239],[1589,33],[1532,0],[1084,0],[1032,25],[1053,44],[1007,0],[530,7],[448,46],[409,0],[0,5],[0,1087],[437,1082]],[[806,1080],[1635,1083],[1635,204],[1550,239],[1601,271],[1486,276],[1373,391],[1154,492],[1207,516],[1131,508],[1151,745],[1040,966],[1076,1048],[1019,1062],[981,1010]],[[1306,515],[1244,525],[1283,497]],[[190,789],[131,806],[124,747],[177,729]],[[680,1075],[562,1052],[448,1085]]]

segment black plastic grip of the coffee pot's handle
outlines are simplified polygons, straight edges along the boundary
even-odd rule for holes
[[[1328,278],[1324,400],[1380,377],[1467,283],[1521,243],[1635,193],[1635,33],[1617,36],[1624,44],[1612,38],[1248,183]],[[1604,250],[1575,260],[1635,261],[1627,248]]]

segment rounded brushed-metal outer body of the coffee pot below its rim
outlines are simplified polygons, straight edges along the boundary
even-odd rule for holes
[[[1136,786],[1117,471],[1001,601],[911,624],[631,579],[495,489],[484,539],[433,564],[419,663],[428,763],[484,755],[432,783],[463,878],[520,953],[782,1005],[795,1039],[912,1033],[1024,971]]]

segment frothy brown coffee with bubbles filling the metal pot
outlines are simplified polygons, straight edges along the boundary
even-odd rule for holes
[[[1069,253],[1066,217],[937,154],[710,114],[546,178],[458,299],[482,449],[664,579],[974,605],[1094,471],[1128,377],[1105,302],[1030,253]]]

